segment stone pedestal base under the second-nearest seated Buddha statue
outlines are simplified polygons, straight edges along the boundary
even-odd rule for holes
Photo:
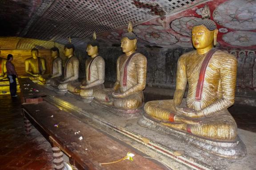
[[[135,110],[121,110],[121,109],[115,108],[114,106],[107,106],[107,105],[101,104],[97,100],[93,100],[90,105],[96,108],[102,108],[102,109],[108,110],[109,112],[112,112],[115,115],[121,116],[121,117],[139,117],[141,116],[144,108],[144,103],[143,103],[142,106],[140,106],[140,108],[137,108]]]

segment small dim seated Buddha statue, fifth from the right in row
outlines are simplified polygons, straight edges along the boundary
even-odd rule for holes
[[[60,58],[60,51],[56,46],[51,48],[51,58],[51,73],[44,81],[46,82],[46,84],[56,86],[56,82],[60,81],[63,70],[62,59]]]

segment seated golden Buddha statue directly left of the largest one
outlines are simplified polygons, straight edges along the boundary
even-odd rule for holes
[[[124,113],[122,116],[126,113],[136,113],[144,101],[147,58],[136,52],[136,42],[132,23],[129,22],[128,33],[125,33],[121,39],[121,48],[125,54],[122,54],[116,62],[114,88],[96,90],[94,93],[96,102],[118,109],[118,112]]]

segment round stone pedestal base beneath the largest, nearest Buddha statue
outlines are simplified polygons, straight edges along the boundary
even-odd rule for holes
[[[186,133],[184,131],[177,131],[172,128],[166,127],[160,124],[159,120],[154,120],[145,113],[143,113],[143,117],[140,118],[138,123],[141,126],[151,128],[156,131],[162,131],[169,135],[175,136],[177,139],[181,139],[182,141],[199,147],[200,149],[222,157],[232,159],[243,158],[247,153],[244,143],[239,139],[238,136],[235,140],[232,141],[205,139],[200,136]]]

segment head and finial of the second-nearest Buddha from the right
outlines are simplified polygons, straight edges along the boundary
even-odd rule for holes
[[[135,52],[137,48],[136,35],[132,32],[132,22],[128,24],[128,33],[122,35],[121,39],[122,51],[126,54]]]

